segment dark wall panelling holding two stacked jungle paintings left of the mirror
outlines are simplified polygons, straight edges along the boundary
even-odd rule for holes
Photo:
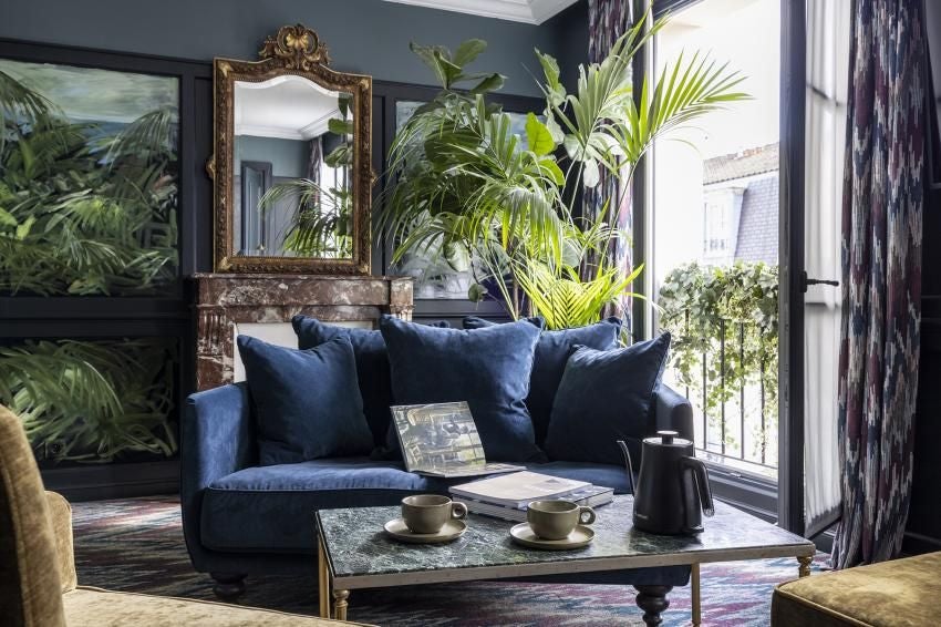
[[[0,404],[69,497],[179,484],[211,103],[205,62],[0,39]]]

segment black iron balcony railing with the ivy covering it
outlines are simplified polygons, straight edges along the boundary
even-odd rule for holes
[[[777,267],[681,266],[661,288],[673,335],[666,381],[694,408],[702,456],[777,472]]]

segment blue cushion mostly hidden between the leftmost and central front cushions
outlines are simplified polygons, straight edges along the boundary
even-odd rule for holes
[[[363,398],[363,413],[366,415],[373,442],[376,446],[385,444],[389,425],[392,421],[389,407],[392,404],[392,383],[389,374],[389,351],[382,333],[373,329],[356,329],[327,325],[317,318],[294,316],[291,325],[298,335],[298,348],[318,347],[334,338],[347,338],[353,345],[356,358],[356,380]],[[436,327],[447,327],[447,322],[434,322]]]

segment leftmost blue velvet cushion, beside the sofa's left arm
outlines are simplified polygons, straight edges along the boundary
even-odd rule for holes
[[[248,336],[237,343],[255,401],[261,465],[372,450],[349,339],[309,350]]]

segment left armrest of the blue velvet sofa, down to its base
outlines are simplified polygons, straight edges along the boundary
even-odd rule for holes
[[[183,535],[193,565],[201,569],[205,549],[199,523],[203,493],[214,481],[256,462],[251,400],[245,383],[190,394],[180,424]]]

